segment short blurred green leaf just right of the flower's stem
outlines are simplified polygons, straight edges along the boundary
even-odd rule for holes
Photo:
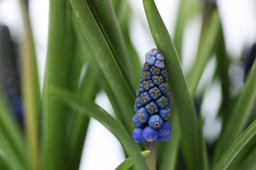
[[[180,146],[180,127],[178,120],[178,113],[175,111],[171,120],[172,136],[167,141],[163,142],[161,154],[159,157],[159,170],[175,170],[179,156]]]

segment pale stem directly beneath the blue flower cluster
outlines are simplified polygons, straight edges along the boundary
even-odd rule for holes
[[[146,142],[146,150],[150,150],[146,160],[150,170],[156,170],[156,141]]]

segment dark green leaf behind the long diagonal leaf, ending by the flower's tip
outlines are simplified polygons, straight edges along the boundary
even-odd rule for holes
[[[86,2],[122,73],[127,81],[132,82],[134,79],[132,79],[131,59],[128,56],[124,37],[118,25],[111,1],[86,0]],[[133,81],[134,83],[136,82]]]

